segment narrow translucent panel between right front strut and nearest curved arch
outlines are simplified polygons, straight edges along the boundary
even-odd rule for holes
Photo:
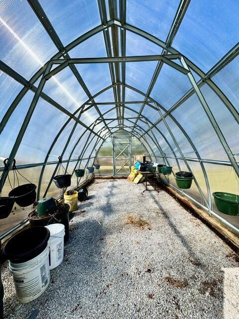
[[[233,154],[239,153],[239,125],[237,121],[217,94],[214,93],[207,84],[201,88],[201,91]]]

